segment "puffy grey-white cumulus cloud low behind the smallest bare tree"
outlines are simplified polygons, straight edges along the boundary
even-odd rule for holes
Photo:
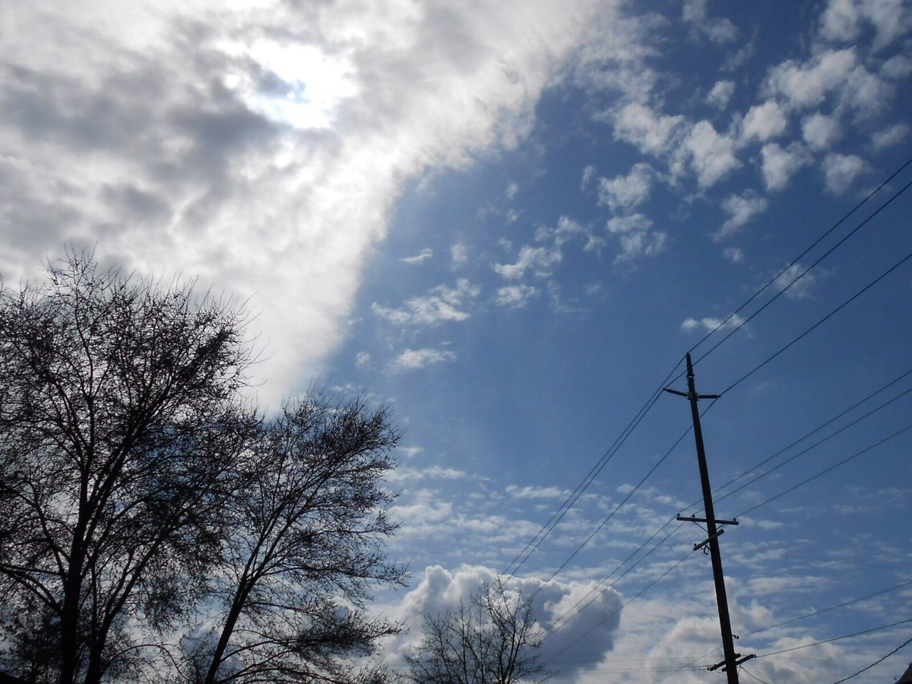
[[[593,583],[504,578],[483,565],[463,565],[458,570],[430,565],[418,585],[391,608],[392,617],[412,628],[391,641],[387,661],[394,667],[404,663],[409,648],[420,642],[424,616],[458,609],[460,602],[465,603],[482,586],[498,583],[513,600],[531,598],[535,626],[544,636],[539,658],[554,658],[554,665],[561,664],[561,679],[572,680],[586,668],[596,668],[614,648],[622,605],[621,596],[614,589],[590,593],[595,589]],[[575,604],[582,605],[590,599],[593,600],[586,610],[571,618],[576,612]]]

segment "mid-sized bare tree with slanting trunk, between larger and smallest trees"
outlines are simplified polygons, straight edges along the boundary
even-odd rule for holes
[[[352,657],[398,631],[364,610],[368,589],[403,580],[381,542],[396,525],[381,478],[399,435],[386,408],[316,393],[264,424],[227,503],[214,628],[184,639],[188,677],[221,682],[376,680]]]

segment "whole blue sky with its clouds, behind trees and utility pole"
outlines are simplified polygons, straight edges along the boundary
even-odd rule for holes
[[[387,664],[500,577],[555,681],[723,680],[688,351],[741,681],[912,636],[906,0],[35,0],[0,68],[6,285],[198,278],[264,410],[394,408]]]

